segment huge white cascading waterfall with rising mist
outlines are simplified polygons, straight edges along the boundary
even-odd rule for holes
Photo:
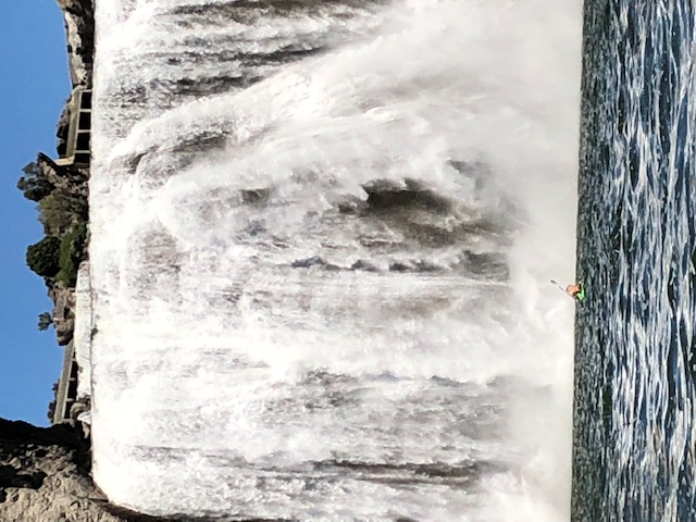
[[[95,477],[568,518],[577,0],[99,0]]]

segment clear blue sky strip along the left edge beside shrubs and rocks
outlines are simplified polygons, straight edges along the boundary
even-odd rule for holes
[[[41,151],[55,158],[55,124],[70,96],[63,16],[55,0],[4,2],[0,32],[0,417],[48,425],[46,412],[63,349],[52,328],[44,281],[26,268],[27,245],[42,237],[35,204],[15,188]]]

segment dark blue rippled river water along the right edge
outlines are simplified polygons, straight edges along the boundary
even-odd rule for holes
[[[694,18],[585,2],[575,521],[696,520]]]

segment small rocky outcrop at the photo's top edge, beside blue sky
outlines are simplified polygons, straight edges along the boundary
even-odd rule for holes
[[[91,87],[95,49],[95,5],[92,0],[58,0],[65,16],[67,57],[73,86]]]

